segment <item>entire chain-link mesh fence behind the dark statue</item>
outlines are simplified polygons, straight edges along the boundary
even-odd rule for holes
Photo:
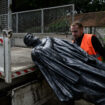
[[[16,33],[64,33],[69,31],[73,18],[73,4],[16,12],[12,14],[12,29]],[[7,28],[6,19],[7,16],[0,16],[1,29]]]

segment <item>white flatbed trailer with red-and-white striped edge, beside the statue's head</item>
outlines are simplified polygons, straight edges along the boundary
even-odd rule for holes
[[[53,92],[32,62],[32,48],[24,45],[23,37],[9,34],[4,31],[0,37],[1,105],[42,105]]]

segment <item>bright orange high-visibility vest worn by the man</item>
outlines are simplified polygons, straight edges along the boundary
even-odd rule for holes
[[[92,34],[84,34],[80,47],[85,50],[89,55],[95,56],[98,60],[102,61],[102,57],[99,55],[98,52],[95,51],[92,45],[92,36]]]

